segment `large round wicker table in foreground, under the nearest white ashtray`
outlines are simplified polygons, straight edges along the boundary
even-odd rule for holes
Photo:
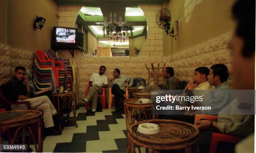
[[[139,133],[137,128],[140,123],[158,124],[160,132],[153,135]],[[195,125],[177,120],[144,120],[132,124],[128,132],[131,153],[134,153],[134,145],[145,147],[146,152],[148,149],[152,149],[151,152],[184,149],[185,153],[191,153],[198,137],[199,130]]]

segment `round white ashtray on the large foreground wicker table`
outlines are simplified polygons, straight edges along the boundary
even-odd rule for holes
[[[138,132],[143,134],[156,134],[160,132],[159,125],[154,123],[141,123],[138,125]]]

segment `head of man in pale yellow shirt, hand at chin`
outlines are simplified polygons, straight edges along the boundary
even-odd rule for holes
[[[199,67],[195,69],[194,79],[197,81],[197,85],[207,81],[207,76],[209,75],[210,70],[206,67]]]

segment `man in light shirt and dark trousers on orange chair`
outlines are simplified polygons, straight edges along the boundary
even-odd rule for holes
[[[133,78],[127,75],[120,75],[120,70],[115,68],[113,70],[114,78],[110,79],[111,81],[111,92],[115,95],[115,113],[118,113],[119,109],[119,100],[122,98],[124,100],[123,94],[125,94],[126,84],[129,83],[131,87],[133,85]]]

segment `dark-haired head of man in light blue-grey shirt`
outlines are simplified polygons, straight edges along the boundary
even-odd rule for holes
[[[215,64],[211,66],[210,74],[207,76],[210,85],[220,85],[228,80],[228,68],[224,64]]]

